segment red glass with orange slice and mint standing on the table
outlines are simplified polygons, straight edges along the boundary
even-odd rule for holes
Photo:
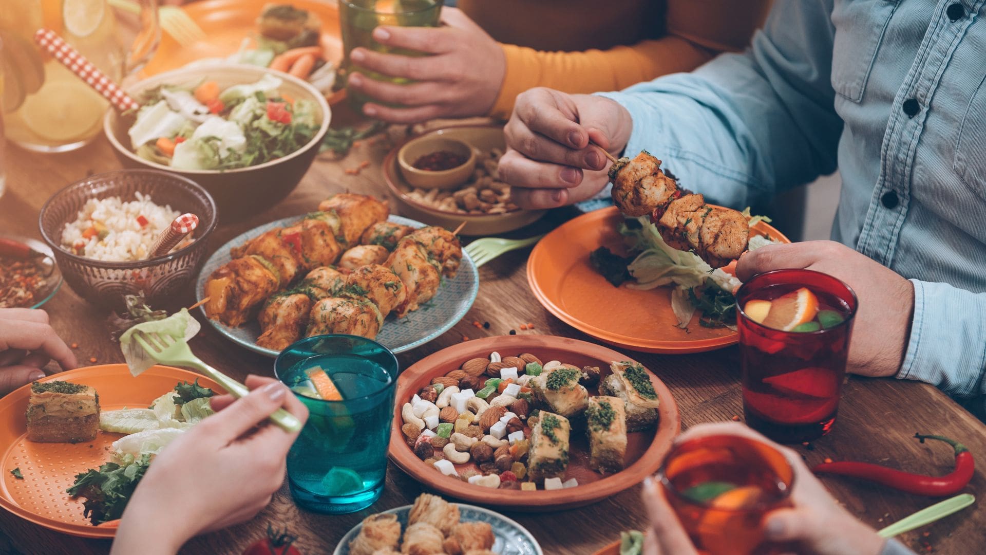
[[[823,313],[831,316],[823,325],[807,324],[815,331],[782,331],[758,323],[747,313],[751,300],[775,302],[803,288],[816,299],[818,319]],[[846,373],[856,293],[820,272],[776,270],[743,283],[736,299],[746,424],[789,443],[828,434]]]

